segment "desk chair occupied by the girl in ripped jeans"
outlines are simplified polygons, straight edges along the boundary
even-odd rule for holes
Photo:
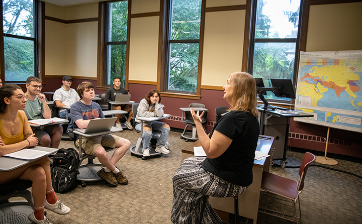
[[[137,157],[141,157],[142,160],[146,160],[146,157],[143,157],[143,152],[142,152],[142,130],[143,130],[143,122],[141,123],[137,123],[135,122],[136,116],[137,116],[137,108],[138,108],[139,102],[133,103],[132,104],[132,117],[133,117],[133,127],[136,130],[136,132],[141,133],[141,137],[138,138],[137,143],[135,146],[133,146],[132,148],[130,148],[131,151],[131,156],[137,156]],[[160,152],[156,152],[156,143],[154,143],[154,140],[158,140],[158,135],[161,134],[161,132],[159,131],[154,131],[152,130],[152,139],[151,139],[151,143],[150,143],[150,158],[151,157],[161,157],[161,153]],[[154,144],[153,144],[154,143]]]

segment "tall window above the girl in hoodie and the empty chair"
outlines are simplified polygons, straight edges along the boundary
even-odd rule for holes
[[[202,0],[170,0],[164,91],[196,94]]]

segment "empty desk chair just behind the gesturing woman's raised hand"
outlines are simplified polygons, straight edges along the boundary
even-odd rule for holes
[[[205,108],[205,105],[202,103],[190,103],[189,107],[203,107]],[[196,111],[195,111],[196,113]],[[204,116],[202,117],[202,124],[204,124],[206,122],[206,117],[207,117],[207,111],[205,111]],[[199,139],[199,137],[197,136],[197,131],[196,131],[196,126],[195,126],[195,122],[194,119],[191,116],[191,112],[190,111],[183,111],[183,117],[182,117],[182,123],[186,125],[183,134],[181,134],[182,139],[185,139],[186,142],[188,142],[189,140],[191,141],[196,141]],[[192,132],[188,132],[188,128],[189,126],[192,127]],[[205,127],[203,126],[204,130]],[[206,130],[205,130],[206,132]]]

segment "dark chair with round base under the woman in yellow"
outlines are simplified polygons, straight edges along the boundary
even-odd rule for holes
[[[14,180],[0,185],[0,223],[28,223],[34,210],[33,197],[29,190],[30,180]],[[26,201],[9,201],[12,197],[24,197]]]

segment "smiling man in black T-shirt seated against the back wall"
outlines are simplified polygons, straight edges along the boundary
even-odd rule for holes
[[[107,92],[105,95],[106,102],[115,101],[117,94],[128,94],[128,91],[121,87],[121,79],[119,77],[115,77],[113,79],[113,85],[114,85],[113,87],[110,87],[109,89],[107,89]],[[122,105],[115,104],[115,105],[112,105],[112,109],[122,109],[122,110],[128,112],[128,119],[125,122],[125,125],[127,126],[127,128],[129,130],[132,130],[133,129],[132,124],[131,124],[132,104],[122,104]],[[116,115],[116,117],[117,117],[116,127],[122,129],[121,120],[120,120],[122,115]]]

